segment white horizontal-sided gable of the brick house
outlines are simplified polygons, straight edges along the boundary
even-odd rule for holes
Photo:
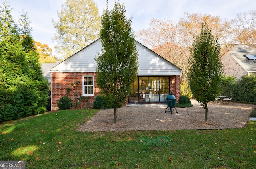
[[[98,39],[56,65],[51,72],[96,72],[95,58],[102,49]],[[180,75],[181,69],[136,41],[138,49],[138,76]]]

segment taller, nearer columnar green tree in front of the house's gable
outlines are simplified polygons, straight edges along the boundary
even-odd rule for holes
[[[102,15],[100,37],[102,53],[96,58],[97,85],[114,108],[114,123],[117,108],[127,100],[131,85],[138,73],[138,52],[131,28],[132,18],[126,19],[123,4],[115,2],[113,10],[108,6]]]

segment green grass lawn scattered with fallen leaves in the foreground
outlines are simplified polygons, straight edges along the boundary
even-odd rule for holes
[[[256,168],[256,122],[228,130],[77,132],[97,111],[0,124],[0,160],[25,160],[28,169]]]

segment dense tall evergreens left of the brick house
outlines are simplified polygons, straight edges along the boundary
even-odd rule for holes
[[[46,110],[48,86],[33,47],[30,22],[24,12],[20,27],[10,6],[0,8],[0,122]]]

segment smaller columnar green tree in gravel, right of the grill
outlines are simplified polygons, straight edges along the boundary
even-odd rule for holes
[[[202,24],[201,33],[194,39],[190,53],[189,86],[196,101],[205,109],[207,122],[207,102],[214,101],[220,92],[223,71],[219,57],[220,44],[206,24]]]

